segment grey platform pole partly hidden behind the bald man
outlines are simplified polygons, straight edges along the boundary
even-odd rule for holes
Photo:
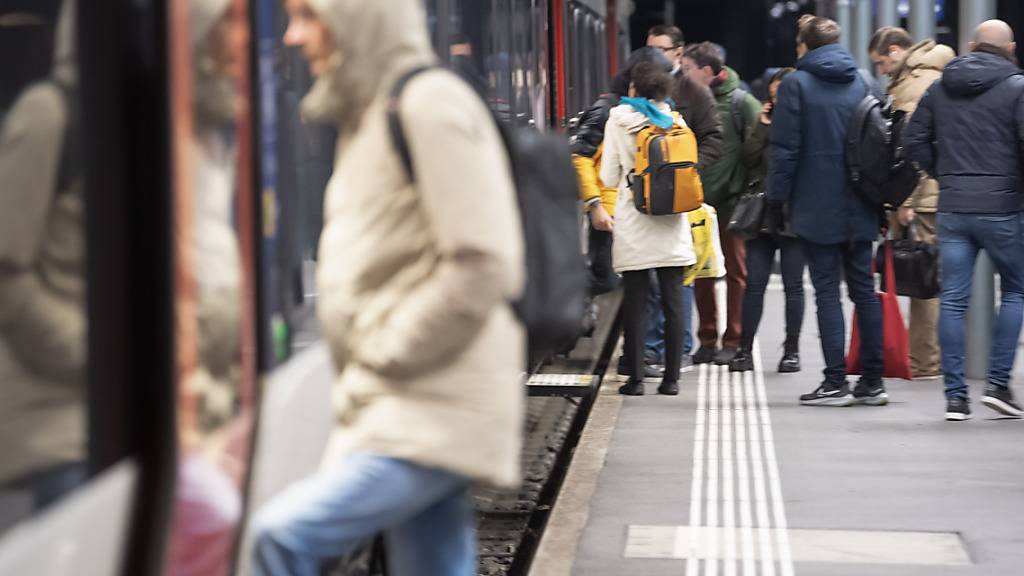
[[[961,2],[961,53],[967,53],[978,25],[995,17],[995,0]],[[992,327],[995,324],[995,269],[985,251],[978,254],[974,266],[971,306],[967,311],[967,377],[984,380],[988,375],[988,360],[992,349]]]

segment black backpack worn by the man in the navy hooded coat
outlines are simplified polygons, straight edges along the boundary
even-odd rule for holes
[[[892,99],[868,94],[860,100],[846,136],[846,166],[857,194],[873,206],[899,207],[913,194],[921,175],[900,142],[906,114]]]

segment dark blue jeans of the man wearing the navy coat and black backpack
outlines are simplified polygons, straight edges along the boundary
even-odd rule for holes
[[[870,242],[815,244],[804,241],[804,255],[811,271],[814,299],[818,306],[818,333],[825,359],[825,381],[846,381],[846,321],[839,285],[846,278],[847,292],[857,306],[860,329],[860,371],[866,381],[882,379],[882,303],[871,275]]]

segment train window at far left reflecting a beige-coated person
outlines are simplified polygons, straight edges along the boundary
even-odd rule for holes
[[[74,4],[0,9],[0,532],[86,479]]]

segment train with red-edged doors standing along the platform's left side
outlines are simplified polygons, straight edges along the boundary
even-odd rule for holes
[[[626,4],[426,0],[441,63],[541,130],[605,89]],[[244,574],[250,511],[318,464],[336,134],[299,120],[285,25],[278,0],[0,0],[33,56],[0,63],[0,574]]]

